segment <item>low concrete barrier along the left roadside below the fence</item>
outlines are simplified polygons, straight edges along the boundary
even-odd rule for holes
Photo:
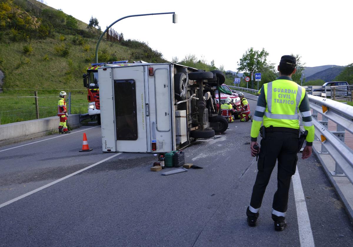
[[[70,128],[80,126],[79,114],[71,114],[67,118]],[[0,146],[58,133],[58,127],[58,116],[0,125]]]

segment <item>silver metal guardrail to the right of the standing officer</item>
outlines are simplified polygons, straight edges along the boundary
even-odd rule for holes
[[[321,140],[321,153],[329,153],[336,162],[331,174],[345,174],[353,184],[353,150],[345,144],[345,131],[353,134],[353,107],[327,98],[308,95],[313,110],[315,135]],[[317,120],[317,114],[322,120]],[[328,120],[337,124],[336,131],[328,130]]]

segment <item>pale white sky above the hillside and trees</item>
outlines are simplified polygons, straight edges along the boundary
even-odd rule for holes
[[[279,64],[282,55],[299,55],[306,67],[353,63],[353,1],[350,0],[44,0],[48,6],[89,22],[112,28],[125,39],[147,43],[164,59],[179,61],[195,55],[208,64],[237,71],[237,62],[251,47],[269,53]],[[148,62],[148,61],[146,61]]]

